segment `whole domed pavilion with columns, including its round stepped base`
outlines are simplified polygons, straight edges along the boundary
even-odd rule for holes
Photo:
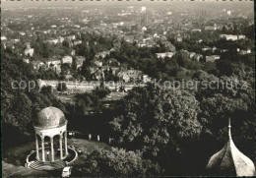
[[[67,124],[65,115],[56,107],[46,107],[37,114],[33,122],[35,152],[27,158],[28,167],[36,170],[61,169],[67,165],[67,157],[71,161],[76,159],[76,150],[68,148]]]

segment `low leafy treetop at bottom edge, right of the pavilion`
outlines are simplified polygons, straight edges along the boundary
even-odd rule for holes
[[[149,159],[143,159],[140,151],[95,148],[86,154],[84,162],[75,167],[73,172],[78,177],[157,176],[160,175],[160,166]]]

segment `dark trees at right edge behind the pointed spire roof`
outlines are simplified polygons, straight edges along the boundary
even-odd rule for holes
[[[200,71],[193,78],[197,82],[207,83],[207,88],[199,84],[195,92],[201,108],[198,120],[203,126],[198,145],[207,149],[202,157],[210,156],[224,145],[227,140],[227,119],[230,118],[235,144],[253,159],[255,94],[251,84],[233,74],[232,77],[217,78]],[[210,82],[211,88],[208,85]]]

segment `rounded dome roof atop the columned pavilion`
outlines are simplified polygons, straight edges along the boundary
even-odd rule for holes
[[[52,129],[67,123],[64,113],[56,107],[46,107],[37,114],[33,126],[42,129]]]

